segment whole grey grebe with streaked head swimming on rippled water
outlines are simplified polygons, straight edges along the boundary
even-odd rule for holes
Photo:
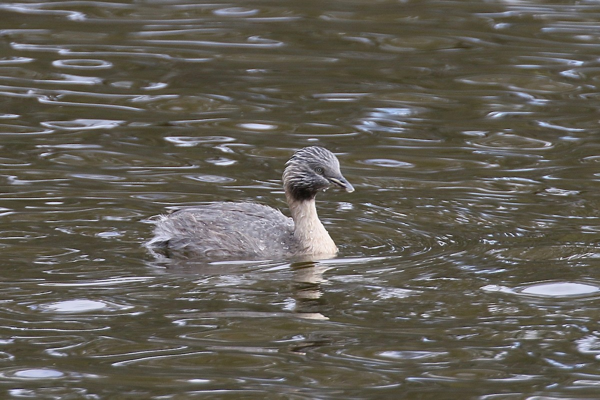
[[[319,221],[314,198],[331,185],[353,191],[332,152],[311,146],[286,163],[284,190],[292,218],[256,203],[203,204],[158,216],[146,243],[166,255],[211,260],[265,259],[291,255],[332,255],[337,247]]]

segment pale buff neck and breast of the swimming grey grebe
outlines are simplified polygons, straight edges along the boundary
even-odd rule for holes
[[[319,220],[314,197],[297,200],[286,191],[286,198],[294,221],[294,239],[298,243],[298,254],[337,253],[337,246]]]

